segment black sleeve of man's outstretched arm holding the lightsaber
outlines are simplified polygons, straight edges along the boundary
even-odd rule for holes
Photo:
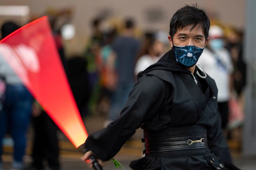
[[[116,121],[85,141],[85,148],[105,161],[113,158],[140,125],[152,118],[164,100],[163,81],[144,75],[136,83]]]

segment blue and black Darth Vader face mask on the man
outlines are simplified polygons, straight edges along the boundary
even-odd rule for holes
[[[192,67],[203,53],[204,47],[173,45],[172,50],[175,54],[176,61],[180,65],[183,67]]]

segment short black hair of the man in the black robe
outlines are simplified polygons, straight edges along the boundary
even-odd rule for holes
[[[205,14],[204,10],[199,9],[197,4],[187,5],[176,11],[170,21],[169,35],[173,39],[173,35],[178,29],[184,28],[184,26],[193,25],[194,29],[197,25],[204,29],[205,41],[208,38],[208,32],[210,29],[210,20]]]

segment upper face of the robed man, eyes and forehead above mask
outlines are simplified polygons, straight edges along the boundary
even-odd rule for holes
[[[168,39],[170,41],[171,48],[173,44],[176,46],[204,47],[209,41],[209,38],[205,40],[204,29],[197,25],[191,30],[192,27],[193,25],[189,25],[184,26],[182,29],[178,29],[177,32],[173,35],[173,40],[169,35]]]

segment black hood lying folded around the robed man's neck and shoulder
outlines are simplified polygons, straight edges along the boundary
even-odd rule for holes
[[[191,72],[187,68],[180,66],[175,61],[174,52],[172,50],[165,53],[158,60],[157,63],[149,66],[144,71],[139,72],[137,75],[137,80],[139,80],[144,74],[148,74],[149,72],[152,72],[153,70],[165,70],[165,71],[183,72],[183,73],[191,74]],[[197,68],[196,68],[196,70],[197,70]],[[196,70],[195,70],[195,72],[196,72]]]

